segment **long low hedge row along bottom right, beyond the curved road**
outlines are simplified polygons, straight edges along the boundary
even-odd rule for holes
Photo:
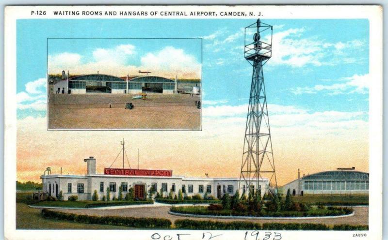
[[[193,230],[331,230],[324,224],[298,223],[253,223],[253,222],[215,222],[179,219],[175,221],[176,228]],[[334,225],[332,230],[368,230],[368,225]]]

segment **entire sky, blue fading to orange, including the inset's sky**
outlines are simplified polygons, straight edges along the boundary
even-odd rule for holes
[[[239,177],[252,77],[244,27],[254,21],[18,20],[17,179],[37,181],[47,166],[53,173],[62,166],[65,173],[84,174],[88,156],[102,172],[123,137],[133,164],[140,149],[144,168]],[[294,180],[298,168],[306,174],[349,166],[368,172],[368,20],[262,22],[274,26],[272,58],[263,71],[278,184]],[[202,131],[46,131],[46,74],[62,69],[201,78]]]

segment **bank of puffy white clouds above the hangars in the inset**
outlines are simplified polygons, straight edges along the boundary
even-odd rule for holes
[[[157,52],[149,52],[140,57],[139,66],[129,65],[136,54],[133,45],[117,45],[113,48],[97,48],[92,53],[92,60],[86,60],[78,54],[61,53],[49,56],[49,73],[61,73],[69,70],[70,74],[101,74],[116,76],[137,75],[138,70],[149,70],[152,75],[164,77],[199,78],[201,64],[184,52],[183,49],[167,46]],[[75,58],[75,56],[78,56]],[[64,61],[66,57],[69,60]],[[73,61],[74,60],[74,61]]]

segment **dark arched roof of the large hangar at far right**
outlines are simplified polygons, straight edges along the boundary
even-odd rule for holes
[[[325,171],[303,177],[303,180],[369,180],[369,173],[359,171]]]

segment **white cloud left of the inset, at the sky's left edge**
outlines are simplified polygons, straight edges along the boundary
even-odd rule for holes
[[[16,102],[18,109],[46,109],[46,78],[39,78],[37,80],[25,84],[25,90],[16,94]]]

